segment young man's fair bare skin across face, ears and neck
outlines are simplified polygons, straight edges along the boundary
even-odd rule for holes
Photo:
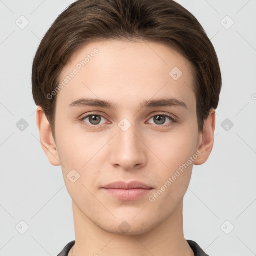
[[[215,110],[198,132],[192,68],[182,55],[159,42],[91,42],[72,55],[59,80],[94,48],[99,50],[96,56],[57,93],[55,141],[42,108],[36,112],[42,148],[52,165],[61,165],[72,198],[75,245],[69,254],[192,256],[183,234],[183,197],[193,164],[203,164],[212,150]],[[175,66],[183,73],[176,81],[169,75]],[[139,107],[143,100],[167,96],[182,100],[188,109]],[[82,97],[109,100],[117,108],[68,107]],[[101,116],[95,128],[79,121],[92,112]],[[154,120],[164,113],[177,121]],[[131,124],[126,131],[118,127],[123,118]],[[89,118],[83,122],[93,125]],[[200,156],[150,202],[148,197],[196,151]],[[80,175],[74,183],[67,178],[72,169]],[[117,180],[138,180],[153,189],[136,200],[119,200],[101,188]],[[127,233],[118,228],[123,221],[130,226]]]

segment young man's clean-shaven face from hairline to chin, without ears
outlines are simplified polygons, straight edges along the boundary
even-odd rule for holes
[[[97,41],[73,54],[59,81],[55,142],[75,210],[118,234],[170,217],[200,154],[187,60],[158,42]],[[150,189],[104,188],[115,181]]]

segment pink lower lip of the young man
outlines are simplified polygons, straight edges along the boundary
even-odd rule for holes
[[[136,200],[139,197],[146,195],[151,189],[134,188],[134,189],[117,189],[117,188],[104,188],[104,190],[117,199],[130,201]]]

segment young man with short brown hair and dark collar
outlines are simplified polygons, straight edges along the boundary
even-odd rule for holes
[[[61,165],[75,240],[59,255],[207,255],[183,234],[193,165],[213,147],[221,73],[172,0],[78,0],[36,52],[40,142]]]

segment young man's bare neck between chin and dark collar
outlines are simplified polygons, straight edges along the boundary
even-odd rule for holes
[[[75,245],[72,256],[194,256],[183,234],[183,199],[163,222],[142,234],[110,233],[87,218],[72,201]]]

